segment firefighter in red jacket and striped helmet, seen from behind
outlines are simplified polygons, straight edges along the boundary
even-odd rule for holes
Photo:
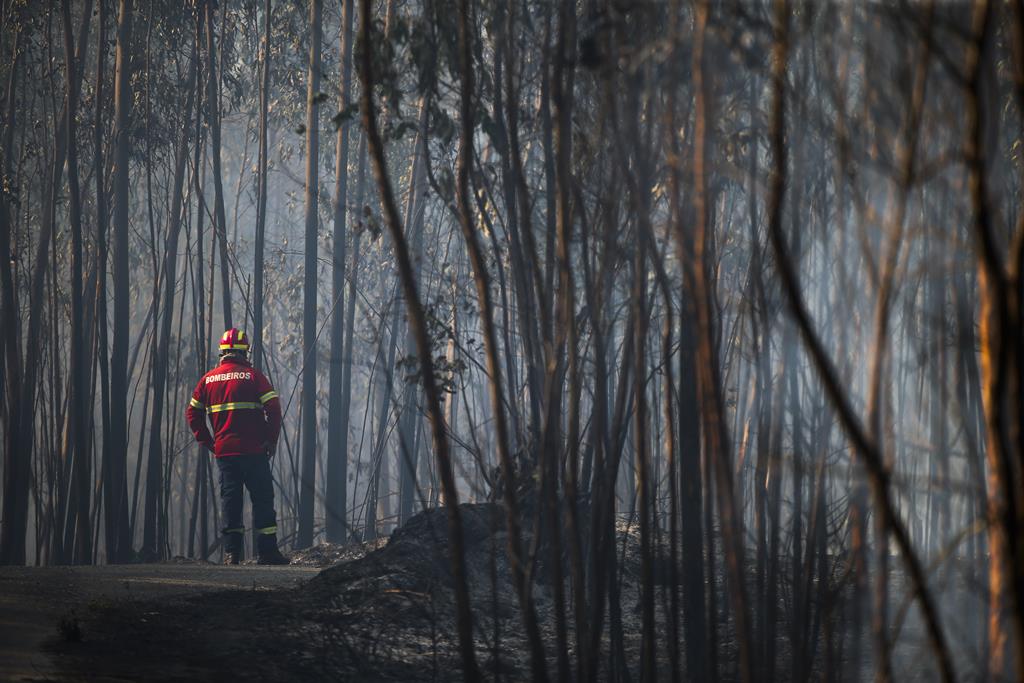
[[[234,328],[225,332],[220,338],[220,365],[196,385],[185,414],[196,440],[213,453],[220,470],[224,564],[238,564],[242,559],[243,486],[253,503],[257,564],[287,564],[278,550],[270,474],[270,458],[281,433],[281,399],[269,380],[250,365],[248,351],[245,332]]]

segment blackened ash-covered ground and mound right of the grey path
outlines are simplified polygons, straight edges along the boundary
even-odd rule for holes
[[[478,504],[461,512],[480,667],[488,677],[528,678],[505,511]],[[623,620],[632,658],[639,647],[638,547],[635,533],[623,531]],[[254,580],[252,590],[91,603],[77,614],[81,640],[56,637],[52,653],[69,676],[95,678],[144,672],[146,680],[165,681],[462,680],[447,549],[445,511],[426,511],[386,541],[295,553],[293,565],[327,567],[296,588],[266,590]],[[554,602],[543,578],[534,599],[553,672]]]

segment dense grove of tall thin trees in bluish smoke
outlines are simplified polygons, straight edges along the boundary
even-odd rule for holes
[[[1020,0],[0,4],[0,562],[217,559],[236,326],[467,680],[489,500],[537,680],[1024,681]]]

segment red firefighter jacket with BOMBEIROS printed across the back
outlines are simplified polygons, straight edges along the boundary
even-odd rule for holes
[[[213,435],[206,425],[210,416]],[[196,440],[218,458],[273,453],[281,434],[281,399],[248,360],[227,356],[203,376],[185,411]]]

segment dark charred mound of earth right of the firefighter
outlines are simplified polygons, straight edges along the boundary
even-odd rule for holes
[[[504,511],[479,504],[460,512],[480,664],[525,675]],[[383,548],[322,571],[306,590],[323,601],[322,637],[360,664],[353,673],[402,671],[401,680],[413,681],[461,679],[454,588],[447,515],[435,509],[410,519]]]

